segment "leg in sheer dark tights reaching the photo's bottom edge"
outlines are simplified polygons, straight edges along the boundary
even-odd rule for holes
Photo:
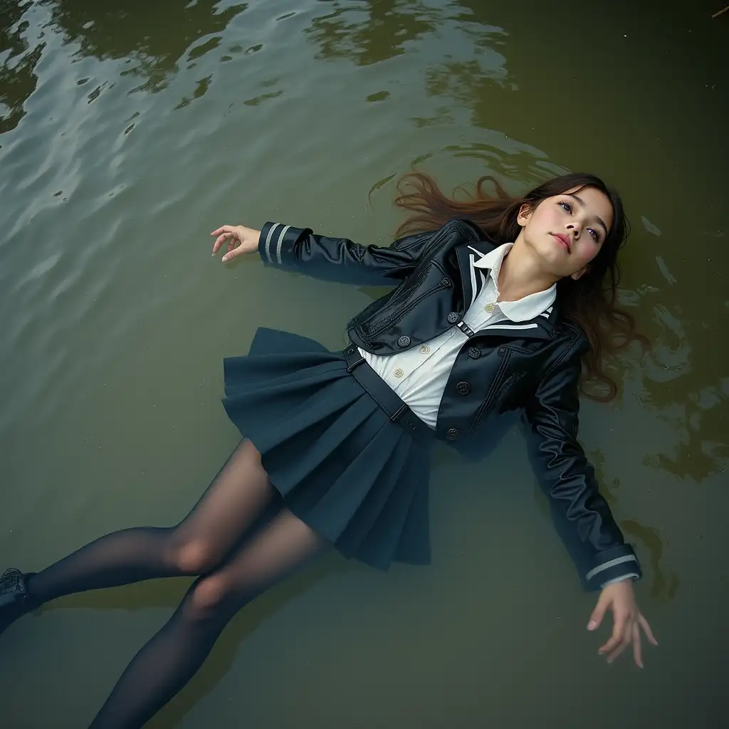
[[[192,585],[168,623],[126,668],[90,729],[140,727],[202,666],[243,605],[327,544],[284,510],[217,572]]]

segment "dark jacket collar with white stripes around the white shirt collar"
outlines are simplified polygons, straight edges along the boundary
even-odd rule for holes
[[[497,264],[500,267],[506,253],[500,250],[502,248],[503,246],[496,246],[490,241],[477,241],[476,243],[457,246],[456,254],[461,271],[466,308],[472,305],[483,287],[486,286],[486,276],[490,275],[491,268],[494,268]],[[548,292],[550,293],[540,292],[546,306],[536,316],[522,321],[512,321],[512,319],[500,321],[498,324],[492,324],[485,330],[477,332],[477,336],[509,335],[513,337],[518,334],[522,337],[535,339],[553,338],[558,320],[558,306],[555,300],[556,284],[554,289],[548,289]],[[508,311],[504,311],[504,313],[507,316],[509,314]]]

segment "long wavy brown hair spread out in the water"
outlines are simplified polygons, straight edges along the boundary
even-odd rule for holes
[[[495,192],[484,190],[488,182]],[[585,187],[600,190],[610,200],[612,227],[587,272],[577,281],[569,277],[558,281],[557,300],[564,316],[577,324],[590,342],[590,349],[582,359],[582,391],[591,399],[609,402],[617,394],[617,384],[604,370],[605,359],[635,340],[644,346],[648,341],[636,332],[633,317],[617,305],[620,283],[617,252],[625,244],[630,227],[620,196],[599,177],[584,173],[562,175],[515,198],[494,177],[486,175],[476,182],[475,190],[457,187],[454,196],[449,198],[431,176],[411,172],[397,184],[394,203],[409,214],[397,229],[397,237],[433,230],[451,218],[460,217],[475,222],[496,243],[512,242],[521,232],[517,222],[521,206],[534,209],[546,198]],[[456,198],[456,193],[461,193],[464,199]]]

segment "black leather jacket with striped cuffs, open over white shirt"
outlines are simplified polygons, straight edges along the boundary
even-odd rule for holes
[[[480,332],[462,321],[483,285],[473,262],[494,247],[462,219],[400,238],[389,248],[270,222],[259,241],[262,260],[279,268],[328,281],[395,286],[348,324],[351,340],[367,351],[393,354],[453,326],[469,335],[445,386],[436,437],[478,459],[489,421],[521,410],[531,461],[583,584],[599,588],[629,575],[638,578],[636,555],[577,442],[585,335],[560,316],[558,303],[531,321],[502,321]]]

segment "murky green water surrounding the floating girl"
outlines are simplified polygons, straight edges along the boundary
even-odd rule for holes
[[[174,523],[236,443],[221,359],[330,346],[373,295],[226,270],[208,232],[389,240],[394,178],[585,169],[625,198],[655,341],[582,440],[661,642],[607,667],[523,444],[434,467],[434,564],[324,558],[241,612],[155,727],[714,728],[729,600],[729,15],[719,0],[0,1],[0,566]],[[372,192],[372,203],[367,203]],[[507,569],[504,569],[504,564]],[[8,729],[87,725],[185,580],[58,601],[0,641]]]

